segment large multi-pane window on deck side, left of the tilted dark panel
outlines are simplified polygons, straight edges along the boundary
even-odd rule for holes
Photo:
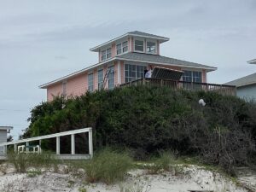
[[[144,70],[147,67],[125,64],[125,83],[144,78]]]

